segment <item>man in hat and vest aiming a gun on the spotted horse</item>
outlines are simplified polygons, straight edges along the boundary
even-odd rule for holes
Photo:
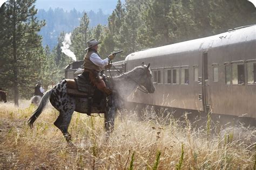
[[[84,56],[84,72],[85,77],[89,77],[91,83],[96,86],[100,91],[103,91],[106,95],[111,95],[112,90],[106,87],[105,82],[100,79],[99,73],[104,70],[104,67],[109,66],[109,61],[114,59],[114,55],[110,54],[106,59],[101,59],[98,54],[98,44],[102,42],[96,39],[87,41],[87,53]]]

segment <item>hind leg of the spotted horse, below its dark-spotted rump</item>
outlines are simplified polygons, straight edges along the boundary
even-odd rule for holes
[[[68,132],[68,128],[69,128],[69,124],[71,121],[71,117],[73,114],[73,109],[72,110],[68,110],[68,111],[63,111],[60,110],[59,111],[59,116],[56,119],[56,121],[54,122],[54,125],[57,126],[57,128],[62,131],[66,141],[68,141],[68,143],[71,142],[71,134]]]

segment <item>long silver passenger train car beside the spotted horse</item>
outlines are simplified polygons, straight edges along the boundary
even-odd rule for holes
[[[113,65],[127,72],[142,62],[151,63],[156,91],[137,90],[130,105],[211,112],[256,126],[256,25],[134,52]]]

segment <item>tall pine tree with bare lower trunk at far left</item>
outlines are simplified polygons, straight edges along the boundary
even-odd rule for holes
[[[36,60],[42,52],[40,50],[42,38],[37,32],[44,22],[36,19],[37,10],[34,3],[35,0],[9,0],[2,14],[5,19],[1,24],[6,37],[2,39],[1,44],[8,44],[2,52],[5,52],[4,58],[8,59],[8,67],[11,70],[11,72],[6,71],[5,76],[8,76],[9,84],[14,88],[14,103],[17,106],[21,89],[19,87],[24,87],[26,81],[21,77],[28,76],[28,73],[34,69],[30,61]]]

